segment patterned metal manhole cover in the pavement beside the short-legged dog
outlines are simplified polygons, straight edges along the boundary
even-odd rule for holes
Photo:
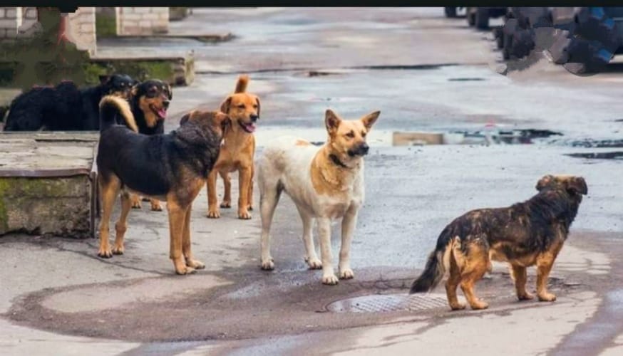
[[[459,299],[461,299],[459,297]],[[464,300],[460,300],[463,302]],[[379,313],[448,308],[445,294],[376,294],[338,300],[326,309],[334,313]]]

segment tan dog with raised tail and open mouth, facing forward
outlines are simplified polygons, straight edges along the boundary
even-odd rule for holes
[[[232,125],[225,131],[223,145],[214,169],[207,177],[207,217],[220,217],[217,206],[216,179],[217,174],[225,184],[225,194],[220,204],[221,208],[232,206],[232,183],[230,172],[238,171],[238,218],[251,219],[249,210],[253,204],[253,174],[255,155],[255,122],[259,119],[259,98],[256,95],[245,93],[249,77],[240,75],[236,84],[235,93],[227,96],[221,104],[221,111],[232,119]]]

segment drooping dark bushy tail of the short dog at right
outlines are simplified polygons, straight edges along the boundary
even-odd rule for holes
[[[422,274],[411,284],[409,294],[428,292],[428,290],[435,288],[441,282],[443,275],[446,274],[449,268],[449,266],[446,266],[446,263],[449,263],[450,258],[452,258],[449,254],[454,244],[458,242],[458,238],[455,238],[451,234],[452,232],[450,226],[441,232],[435,251],[428,255],[426,267],[424,267]]]

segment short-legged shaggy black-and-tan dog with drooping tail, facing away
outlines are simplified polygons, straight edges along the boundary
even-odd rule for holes
[[[536,188],[538,194],[527,201],[507,208],[469,211],[448,224],[410,293],[435,288],[449,271],[446,293],[450,308],[465,308],[456,296],[459,285],[472,309],[487,308],[487,303],[476,298],[474,284],[491,271],[493,260],[510,264],[519,300],[534,298],[525,290],[525,283],[526,267],[535,265],[539,300],[556,300],[547,291],[547,278],[588,189],[582,177],[552,175],[542,177]]]

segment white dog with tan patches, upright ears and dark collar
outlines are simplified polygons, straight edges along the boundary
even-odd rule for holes
[[[262,269],[272,270],[270,225],[282,192],[297,205],[303,221],[305,261],[309,268],[322,268],[322,283],[337,284],[331,257],[331,220],[341,224],[339,276],[354,277],[349,255],[359,206],[364,201],[364,160],[369,147],[366,135],[380,111],[360,120],[341,120],[326,110],[329,137],[324,146],[315,147],[296,137],[282,137],[264,148],[258,162],[260,215],[262,217]],[[318,224],[322,261],[316,255],[312,226]]]

